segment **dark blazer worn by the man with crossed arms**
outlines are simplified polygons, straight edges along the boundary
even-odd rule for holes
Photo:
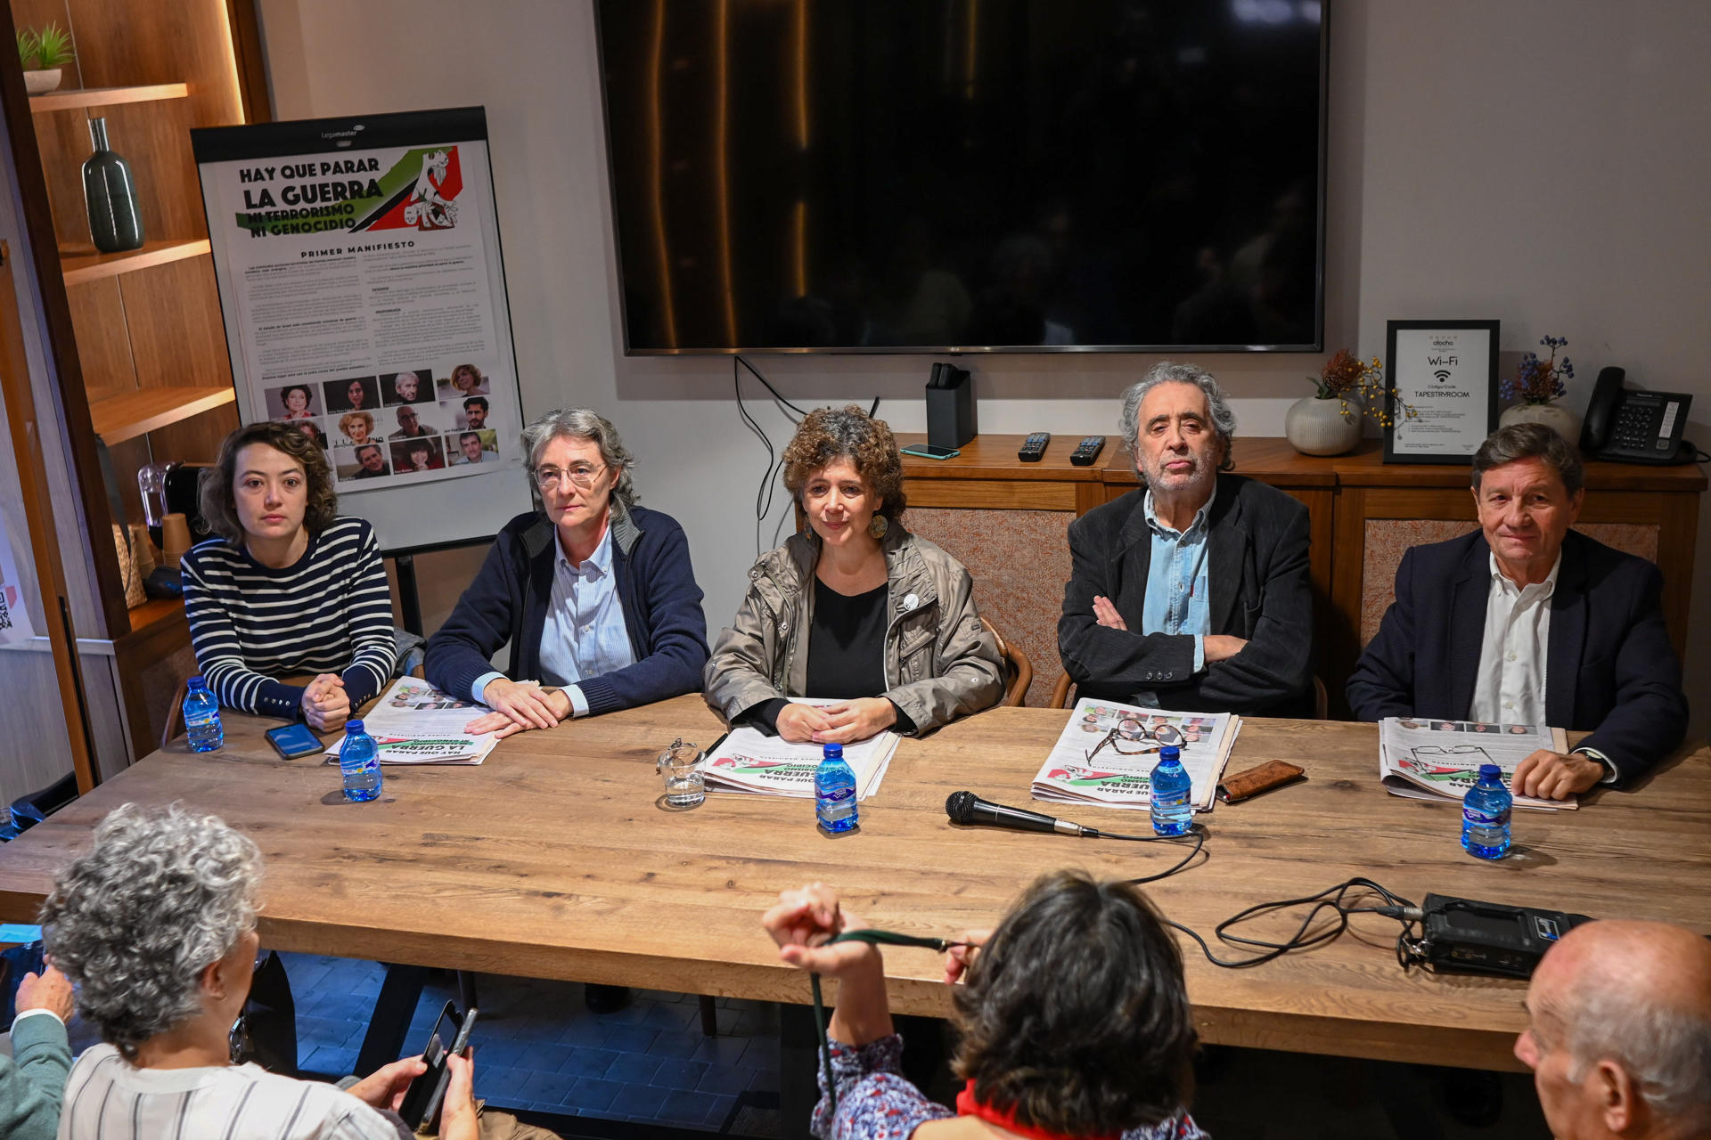
[[[1312,586],[1307,508],[1266,484],[1218,475],[1208,520],[1211,632],[1247,648],[1194,672],[1187,634],[1140,632],[1152,532],[1146,491],[1093,508],[1069,523],[1069,585],[1057,619],[1057,653],[1078,694],[1134,704],[1242,716],[1312,714]],[[1093,619],[1093,596],[1112,600],[1129,629]]]

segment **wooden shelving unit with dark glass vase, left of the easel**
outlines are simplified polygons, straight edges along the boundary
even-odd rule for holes
[[[132,757],[159,740],[176,684],[195,670],[180,600],[125,607],[113,528],[142,521],[137,470],[156,461],[209,463],[238,426],[219,291],[190,132],[270,118],[255,0],[7,0],[14,27],[53,21],[72,29],[67,89],[9,104],[17,135],[34,135],[24,214],[33,248],[58,250],[63,289],[43,289],[41,325],[62,388],[70,492],[84,533],[60,540],[82,564],[67,598],[91,673],[89,721]],[[171,9],[169,19],[163,12]],[[164,82],[163,82],[164,80]],[[108,121],[113,150],[137,185],[144,232],[128,253],[96,253],[82,164],[89,120]],[[38,255],[39,256],[39,255]],[[38,263],[38,272],[51,272]],[[72,504],[65,504],[70,513]],[[63,530],[63,523],[62,523]],[[0,687],[12,673],[0,655]],[[14,670],[17,673],[19,670]],[[103,704],[104,702],[104,704]],[[0,726],[0,754],[26,747]],[[99,757],[123,767],[123,755]]]

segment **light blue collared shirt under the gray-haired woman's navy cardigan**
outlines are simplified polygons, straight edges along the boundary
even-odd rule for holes
[[[554,538],[556,542],[556,538]],[[582,696],[583,677],[604,677],[635,665],[625,605],[613,574],[613,528],[607,525],[601,545],[587,562],[571,566],[565,547],[558,547],[553,564],[553,598],[541,629],[541,684],[563,685],[570,696],[570,714],[587,716],[589,699]],[[488,682],[505,673],[491,672],[476,679],[474,697],[481,701]]]

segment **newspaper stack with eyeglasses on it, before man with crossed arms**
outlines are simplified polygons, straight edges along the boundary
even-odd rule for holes
[[[1158,764],[1153,733],[1170,725],[1182,733],[1182,767],[1193,784],[1196,812],[1210,812],[1230,747],[1242,730],[1234,713],[1170,713],[1083,697],[1057,743],[1033,778],[1035,800],[1152,807],[1152,776]]]

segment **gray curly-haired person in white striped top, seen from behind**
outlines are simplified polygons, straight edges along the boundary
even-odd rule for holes
[[[113,810],[94,848],[41,909],[44,950],[77,983],[106,1044],[65,1082],[60,1137],[394,1140],[421,1058],[347,1090],[233,1065],[228,1032],[260,947],[262,853],[219,817],[181,807]],[[440,1135],[476,1140],[471,1061],[452,1061]],[[116,1096],[115,1096],[116,1094]],[[113,1106],[123,1106],[115,1111]]]

